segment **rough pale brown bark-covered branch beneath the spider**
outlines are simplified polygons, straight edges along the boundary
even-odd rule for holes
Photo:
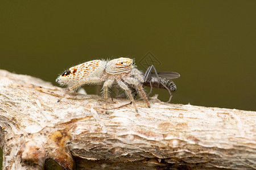
[[[102,109],[101,96],[69,93],[0,70],[3,169],[255,169],[256,112],[136,100]],[[109,108],[129,103],[114,99]]]

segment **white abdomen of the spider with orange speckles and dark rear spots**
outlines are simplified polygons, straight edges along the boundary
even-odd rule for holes
[[[81,63],[80,65],[73,66],[64,71],[57,79],[56,82],[62,85],[72,85],[90,76],[101,76],[105,69],[106,61],[96,59]]]

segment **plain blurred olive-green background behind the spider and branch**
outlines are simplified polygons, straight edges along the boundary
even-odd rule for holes
[[[181,74],[172,103],[256,110],[256,1],[0,1],[0,69],[55,83],[98,58]],[[144,61],[142,61],[144,62]],[[95,94],[94,87],[86,87]],[[155,90],[167,101],[168,92]]]

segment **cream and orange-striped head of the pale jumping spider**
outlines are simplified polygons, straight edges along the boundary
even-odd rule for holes
[[[128,73],[134,67],[131,58],[116,58],[110,60],[106,65],[106,72],[109,74]]]

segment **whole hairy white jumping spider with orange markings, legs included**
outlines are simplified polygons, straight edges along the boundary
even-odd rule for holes
[[[56,82],[61,85],[67,85],[68,90],[63,96],[60,97],[58,101],[63,99],[69,91],[80,87],[84,84],[103,84],[104,98],[106,99],[106,107],[108,105],[108,88],[112,86],[114,82],[117,82],[118,86],[121,87],[126,95],[133,103],[134,108],[138,111],[133,96],[131,95],[131,90],[128,87],[129,84],[135,86],[138,94],[143,97],[146,101],[148,108],[150,104],[148,103],[147,95],[143,91],[142,84],[144,76],[141,71],[139,71],[134,65],[133,59],[130,58],[117,58],[110,61],[104,60],[93,60],[82,63],[77,66],[73,66],[61,74]]]

